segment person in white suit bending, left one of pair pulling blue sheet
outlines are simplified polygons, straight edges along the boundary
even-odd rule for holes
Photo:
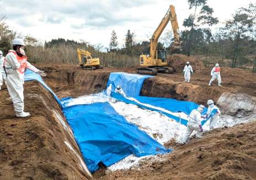
[[[190,135],[193,133],[193,131],[196,131],[196,137],[202,138],[202,133],[204,130],[202,130],[201,125],[201,113],[204,110],[205,106],[200,105],[197,109],[194,109],[190,112],[189,115],[189,122],[188,126],[186,127],[185,136],[182,140],[182,144],[188,143]]]

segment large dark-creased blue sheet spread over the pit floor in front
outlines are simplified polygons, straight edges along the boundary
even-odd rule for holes
[[[69,106],[63,112],[91,172],[100,162],[110,166],[130,154],[140,157],[171,151],[127,122],[107,102]]]

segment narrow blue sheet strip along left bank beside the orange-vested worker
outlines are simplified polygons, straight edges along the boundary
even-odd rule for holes
[[[50,91],[50,93],[54,96],[54,98],[56,99],[58,104],[60,104],[61,108],[63,108],[63,105],[62,105],[60,99],[58,99],[57,95],[51,90],[51,88],[49,86],[46,85],[44,80],[42,80],[42,77],[39,74],[36,74],[35,72],[33,72],[29,69],[26,69],[24,81],[34,81],[34,80],[40,82],[42,86],[44,86],[48,91]]]

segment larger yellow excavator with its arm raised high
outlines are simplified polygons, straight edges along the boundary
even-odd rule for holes
[[[166,28],[168,22],[172,25],[174,42],[171,46],[172,53],[181,52],[180,45],[180,35],[179,35],[179,25],[177,21],[177,15],[175,13],[174,5],[170,5],[166,15],[160,22],[157,29],[154,31],[151,39],[150,39],[150,55],[142,54],[140,55],[140,67],[136,69],[136,73],[138,74],[149,74],[149,75],[157,75],[157,72],[161,73],[172,73],[172,70],[167,67],[167,56],[166,50],[157,49],[157,41],[161,36],[163,30]]]

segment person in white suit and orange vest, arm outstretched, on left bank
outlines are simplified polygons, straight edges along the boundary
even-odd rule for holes
[[[13,50],[9,50],[4,59],[4,69],[7,75],[6,85],[13,102],[16,116],[27,117],[30,114],[29,112],[24,112],[23,84],[25,69],[28,68],[44,77],[46,74],[27,61],[23,40],[16,38],[13,40],[12,45]]]

